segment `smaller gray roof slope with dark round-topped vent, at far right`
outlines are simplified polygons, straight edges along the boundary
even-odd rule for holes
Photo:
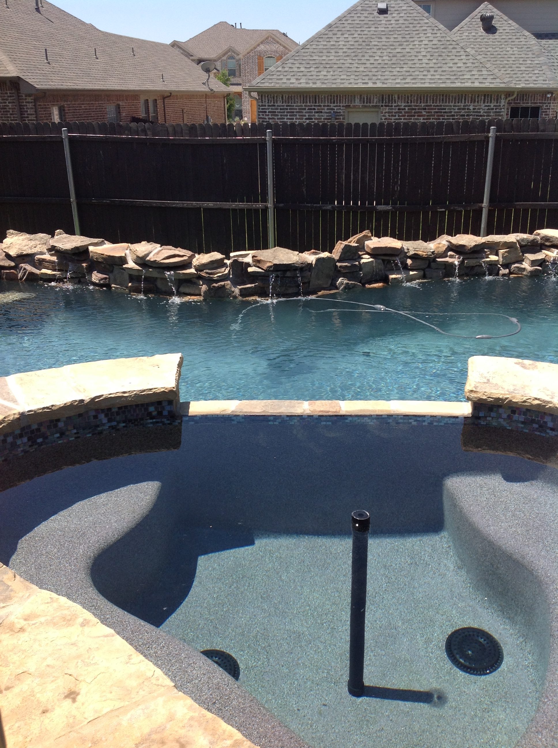
[[[481,13],[494,13],[489,31],[483,30]],[[451,35],[497,71],[512,88],[558,85],[554,66],[542,44],[489,2],[480,5]]]

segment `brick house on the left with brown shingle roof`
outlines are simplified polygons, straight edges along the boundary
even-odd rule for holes
[[[99,31],[46,0],[0,5],[0,120],[226,121],[211,90],[168,44]]]

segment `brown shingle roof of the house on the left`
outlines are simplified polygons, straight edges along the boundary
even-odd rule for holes
[[[202,70],[168,44],[100,31],[46,0],[40,10],[34,0],[0,5],[0,75],[43,90],[208,91]]]

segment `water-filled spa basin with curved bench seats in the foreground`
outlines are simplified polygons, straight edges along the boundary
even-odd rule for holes
[[[512,601],[501,579],[483,583],[464,548],[486,549],[457,508],[460,497],[486,506],[489,494],[509,536],[521,506],[545,522],[556,470],[465,452],[461,437],[460,419],[437,417],[188,417],[179,450],[0,494],[0,560],[140,651],[143,632],[122,611],[195,649],[231,652],[240,684],[313,748],[511,748],[545,678],[545,615],[529,597],[533,579],[513,577]],[[437,690],[438,708],[347,694],[356,508],[372,517],[366,682]],[[497,549],[489,556],[496,570]],[[500,641],[492,675],[447,659],[447,634],[462,626]],[[194,675],[182,678],[211,705]],[[303,745],[273,735],[258,744]]]

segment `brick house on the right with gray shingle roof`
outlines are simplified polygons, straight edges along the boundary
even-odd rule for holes
[[[489,3],[449,31],[434,7],[359,0],[245,86],[258,97],[258,119],[557,116],[557,33],[526,31]],[[557,0],[553,7],[558,25]]]

